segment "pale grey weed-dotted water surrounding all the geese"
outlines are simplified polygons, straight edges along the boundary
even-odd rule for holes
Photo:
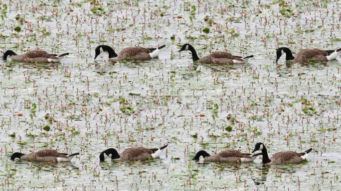
[[[274,59],[278,42],[294,52],[340,48],[340,1],[91,2],[2,1],[2,8],[8,6],[0,26],[2,51],[70,55],[56,65],[0,60],[0,189],[339,190],[341,58],[309,65],[284,58],[276,65]],[[93,7],[106,13],[95,15]],[[294,15],[284,17],[282,8]],[[205,27],[210,33],[201,32]],[[193,64],[189,52],[177,53],[183,43],[193,44],[199,56],[218,49],[255,57],[243,65]],[[117,52],[167,46],[160,59],[111,63],[107,55],[93,60],[99,44]],[[122,113],[123,106],[135,112]],[[305,113],[305,107],[316,113]],[[46,120],[47,113],[55,121]],[[224,130],[229,125],[231,132]],[[314,150],[306,164],[269,169],[261,159],[241,165],[190,160],[201,149],[250,152],[260,141],[270,155]],[[165,143],[160,160],[99,163],[99,153],[109,147]],[[9,160],[12,151],[44,148],[81,155],[59,164]]]

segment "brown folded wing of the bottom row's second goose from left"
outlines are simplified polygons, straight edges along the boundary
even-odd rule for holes
[[[143,147],[134,147],[124,150],[121,153],[120,160],[147,160],[152,159],[153,151]]]

